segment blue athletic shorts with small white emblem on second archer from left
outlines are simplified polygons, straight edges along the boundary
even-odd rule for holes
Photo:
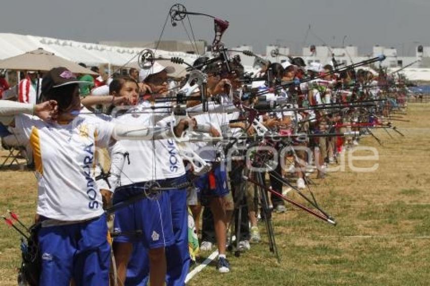
[[[175,186],[186,181],[185,176],[158,180],[160,186]],[[117,187],[113,195],[113,204],[142,194],[145,182]],[[181,192],[175,188],[171,192]],[[174,243],[174,234],[168,191],[161,191],[155,198],[142,199],[115,212],[113,221],[114,242],[142,242],[148,249],[170,246]]]

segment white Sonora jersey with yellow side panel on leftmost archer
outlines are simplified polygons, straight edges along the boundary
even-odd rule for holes
[[[103,214],[95,180],[95,150],[106,147],[113,125],[77,116],[66,125],[38,117],[15,117],[16,135],[33,149],[38,181],[37,214],[57,220],[84,220]]]

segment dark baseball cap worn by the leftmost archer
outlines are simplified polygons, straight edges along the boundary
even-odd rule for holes
[[[52,88],[77,83],[80,87],[91,85],[92,82],[80,81],[76,76],[65,67],[51,69],[42,79],[42,93],[49,92]]]

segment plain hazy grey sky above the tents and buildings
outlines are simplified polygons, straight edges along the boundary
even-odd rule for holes
[[[187,11],[228,20],[225,45],[248,44],[254,52],[264,52],[273,43],[292,52],[326,43],[357,45],[360,53],[370,53],[379,44],[397,48],[398,55],[415,55],[417,44],[430,45],[430,0],[3,1],[0,32],[77,41],[157,40],[169,8],[181,3]],[[213,21],[190,17],[196,39],[210,43]],[[188,37],[182,24],[172,27],[167,21],[162,39]]]

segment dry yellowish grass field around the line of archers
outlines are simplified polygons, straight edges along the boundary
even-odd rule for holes
[[[330,173],[315,181],[318,201],[337,221],[333,227],[288,206],[275,214],[281,263],[263,242],[235,258],[232,271],[219,274],[214,265],[190,285],[428,285],[430,284],[430,105],[409,104],[410,122],[394,121],[406,137],[374,131],[383,146],[368,136],[361,146],[376,148],[379,159],[354,162],[374,172]],[[368,156],[356,151],[354,156]],[[30,223],[36,184],[28,171],[0,171],[0,212],[18,212]],[[297,199],[296,197],[294,197]],[[205,257],[209,253],[202,253]],[[19,235],[0,225],[0,284],[16,284]]]

